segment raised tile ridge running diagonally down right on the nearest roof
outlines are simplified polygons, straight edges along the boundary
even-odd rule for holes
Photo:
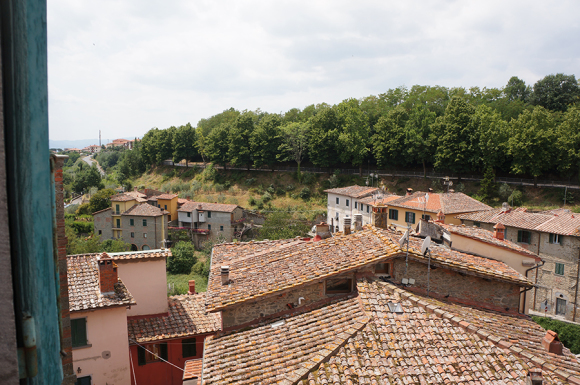
[[[484,328],[480,328],[472,324],[471,322],[466,321],[464,318],[454,315],[453,313],[446,311],[441,306],[432,305],[428,302],[421,300],[417,296],[412,293],[409,293],[406,290],[399,289],[396,286],[393,286],[393,291],[397,292],[401,297],[415,303],[416,305],[422,307],[428,313],[432,313],[436,317],[440,319],[446,319],[451,324],[458,326],[469,332],[471,334],[476,334],[479,338],[484,341],[491,342],[494,346],[502,349],[502,350],[509,350],[511,353],[516,355],[520,358],[528,359],[535,367],[539,369],[549,370],[550,372],[554,373],[557,377],[568,380],[574,376],[574,373],[564,373],[562,369],[558,369],[555,365],[550,364],[540,356],[532,353],[528,348],[525,346],[523,348],[517,347],[516,344],[506,340],[503,337],[497,336],[495,333],[491,333],[486,331]],[[580,383],[580,378],[578,379]]]

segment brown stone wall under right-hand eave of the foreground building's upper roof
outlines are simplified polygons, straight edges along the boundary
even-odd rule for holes
[[[401,282],[405,274],[405,260],[394,261],[393,278]],[[411,289],[427,290],[427,265],[409,261],[408,277],[415,279]],[[430,291],[440,297],[465,304],[517,312],[520,288],[510,283],[486,280],[441,267],[431,267]]]

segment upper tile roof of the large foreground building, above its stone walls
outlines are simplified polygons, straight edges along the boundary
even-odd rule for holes
[[[350,235],[318,242],[295,239],[265,243],[254,251],[246,242],[216,245],[207,289],[207,310],[217,311],[279,291],[326,279],[389,257],[403,255],[400,234],[367,226]],[[422,240],[411,239],[410,257],[426,263]],[[250,242],[250,245],[252,243]],[[460,253],[441,246],[431,248],[439,266],[495,280],[532,286],[532,282],[501,261]],[[222,285],[220,267],[230,267],[229,285]]]

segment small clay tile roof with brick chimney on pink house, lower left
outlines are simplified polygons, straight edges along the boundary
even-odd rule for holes
[[[115,284],[115,293],[101,294],[96,254],[71,255],[66,262],[71,311],[135,305],[133,296],[120,279]]]

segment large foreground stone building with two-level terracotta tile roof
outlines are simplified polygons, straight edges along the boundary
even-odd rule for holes
[[[206,310],[223,329],[203,383],[580,383],[576,357],[518,313],[530,280],[443,246],[421,254],[420,239],[407,259],[400,236],[214,247]]]

